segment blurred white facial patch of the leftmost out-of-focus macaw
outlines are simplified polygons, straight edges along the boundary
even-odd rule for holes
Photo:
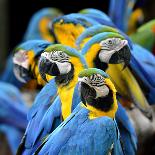
[[[19,65],[25,69],[29,68],[29,59],[27,55],[27,51],[25,50],[19,50],[17,53],[15,53],[13,57],[13,63],[16,65]]]

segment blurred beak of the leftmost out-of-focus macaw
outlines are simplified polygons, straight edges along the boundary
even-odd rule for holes
[[[31,74],[29,70],[27,70],[26,68],[22,66],[14,64],[13,71],[14,71],[16,78],[20,82],[27,83],[29,80],[31,80]]]

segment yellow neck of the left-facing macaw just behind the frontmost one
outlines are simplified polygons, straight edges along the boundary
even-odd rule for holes
[[[72,109],[72,100],[74,95],[74,89],[78,82],[78,75],[81,70],[84,69],[81,63],[78,63],[75,59],[74,74],[72,79],[66,85],[58,85],[58,94],[61,100],[62,117],[65,120],[70,114]]]

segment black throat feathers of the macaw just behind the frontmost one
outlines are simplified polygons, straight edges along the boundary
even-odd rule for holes
[[[67,74],[59,75],[55,77],[56,84],[67,85],[74,77],[74,66],[71,64],[71,70]]]

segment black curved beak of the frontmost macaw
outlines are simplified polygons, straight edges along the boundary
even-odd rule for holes
[[[81,101],[85,106],[87,106],[86,103],[89,102],[90,98],[96,97],[95,89],[91,88],[85,82],[79,83],[79,92],[80,92]]]

